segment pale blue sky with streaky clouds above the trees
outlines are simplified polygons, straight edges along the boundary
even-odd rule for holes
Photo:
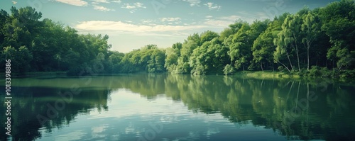
[[[0,9],[32,6],[82,34],[109,35],[111,50],[130,52],[145,45],[171,47],[188,35],[212,30],[220,33],[241,19],[273,19],[327,6],[335,0],[1,0]]]

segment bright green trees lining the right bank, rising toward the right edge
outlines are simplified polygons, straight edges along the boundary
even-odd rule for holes
[[[221,33],[195,33],[168,48],[165,67],[178,74],[280,70],[355,77],[349,71],[355,68],[354,13],[354,1],[342,0],[320,9],[283,13],[273,21],[239,20]]]

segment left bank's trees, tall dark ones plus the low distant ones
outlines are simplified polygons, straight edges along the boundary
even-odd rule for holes
[[[82,35],[32,7],[0,12],[1,66],[11,60],[11,72],[67,72],[70,75],[166,72],[165,50],[147,45],[121,53],[109,50],[108,35]],[[5,67],[1,67],[4,69]]]

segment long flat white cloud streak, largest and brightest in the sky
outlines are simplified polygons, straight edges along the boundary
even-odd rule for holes
[[[155,25],[155,26],[138,26],[131,23],[124,23],[121,21],[84,21],[75,28],[81,31],[95,31],[95,30],[111,30],[116,32],[166,32],[166,31],[182,31],[193,30],[197,28],[204,28],[205,26],[169,26],[169,25]]]

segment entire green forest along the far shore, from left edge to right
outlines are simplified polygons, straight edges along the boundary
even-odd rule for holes
[[[31,7],[11,7],[11,14],[1,10],[1,60],[11,59],[12,72],[235,74],[251,70],[355,77],[352,0],[318,9],[305,7],[273,20],[239,19],[221,33],[193,33],[172,47],[146,45],[128,53],[110,50],[108,35],[82,35],[41,16]]]

